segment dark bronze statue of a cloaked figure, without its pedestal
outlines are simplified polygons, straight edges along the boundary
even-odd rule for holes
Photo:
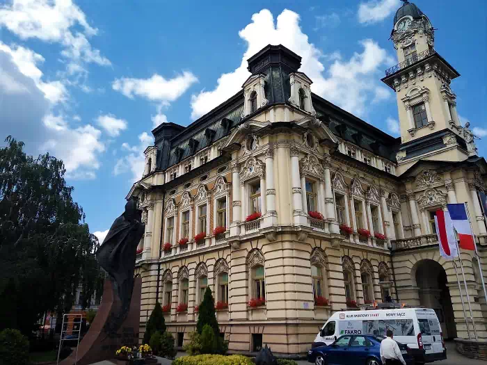
[[[125,212],[111,225],[96,253],[99,265],[109,273],[114,292],[121,302],[118,315],[109,325],[111,332],[118,330],[129,311],[134,289],[136,250],[145,230],[141,218],[142,211],[137,208],[137,199],[132,197],[125,204]]]

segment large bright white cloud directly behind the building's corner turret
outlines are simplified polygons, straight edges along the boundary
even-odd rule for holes
[[[214,90],[202,90],[191,97],[191,117],[200,117],[238,92],[249,76],[248,58],[267,44],[283,44],[303,57],[300,71],[312,79],[312,91],[355,115],[364,115],[368,102],[382,100],[386,95],[377,73],[383,65],[393,61],[373,40],[360,41],[362,53],[353,54],[349,60],[342,60],[337,51],[331,52],[335,61],[324,72],[321,59],[326,58],[309,42],[308,35],[299,26],[299,15],[291,10],[283,10],[276,25],[271,12],[261,10],[252,16],[252,22],[239,35],[247,42],[240,66],[233,72],[222,74]]]

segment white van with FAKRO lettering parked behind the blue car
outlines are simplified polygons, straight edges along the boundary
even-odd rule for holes
[[[438,317],[426,308],[339,311],[321,327],[312,348],[330,345],[344,334],[385,336],[387,330],[394,332],[394,340],[408,345],[416,364],[447,358]]]

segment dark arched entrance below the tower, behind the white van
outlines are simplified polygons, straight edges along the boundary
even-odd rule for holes
[[[434,309],[440,321],[443,337],[454,339],[456,325],[445,268],[437,261],[424,259],[415,264],[411,276],[418,288],[420,305]]]

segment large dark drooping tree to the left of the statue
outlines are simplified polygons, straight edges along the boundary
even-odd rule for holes
[[[98,240],[72,199],[63,161],[0,149],[0,330],[29,334],[45,311],[67,311],[77,286],[87,306],[99,280]],[[99,284],[98,284],[99,286]]]

